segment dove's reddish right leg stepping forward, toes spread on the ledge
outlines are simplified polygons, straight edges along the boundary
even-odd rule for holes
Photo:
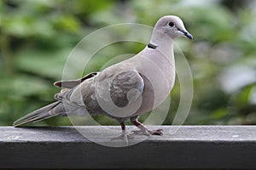
[[[138,119],[138,116],[133,116],[133,117],[130,118],[131,122],[140,129],[138,131],[134,130],[134,131],[132,131],[132,133],[143,133],[147,136],[150,136],[150,135],[160,135],[161,136],[161,135],[163,135],[163,129],[148,130],[148,128],[145,127],[143,125],[143,123],[138,122],[137,119]]]

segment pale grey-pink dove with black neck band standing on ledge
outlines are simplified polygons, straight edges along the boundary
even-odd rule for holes
[[[139,54],[79,80],[55,82],[56,87],[64,88],[55,94],[57,101],[21,117],[14,126],[51,116],[89,113],[116,119],[125,140],[128,119],[145,134],[162,135],[161,129],[148,130],[137,118],[160,105],[172,90],[175,82],[173,39],[176,37],[193,39],[177,16],[160,18],[148,46]]]

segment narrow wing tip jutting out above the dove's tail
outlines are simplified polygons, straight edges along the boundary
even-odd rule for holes
[[[84,82],[84,80],[87,80],[91,77],[95,77],[97,74],[97,72],[91,72],[90,74],[87,74],[84,77],[79,78],[77,80],[59,81],[55,82],[54,85],[58,88],[74,88],[75,86],[79,85],[79,83]]]

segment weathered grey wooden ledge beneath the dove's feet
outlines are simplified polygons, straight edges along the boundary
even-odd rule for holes
[[[79,128],[110,142],[106,129]],[[85,139],[74,127],[0,127],[0,168],[256,169],[256,126],[183,126],[174,134],[170,126],[161,128],[163,136],[107,147]]]

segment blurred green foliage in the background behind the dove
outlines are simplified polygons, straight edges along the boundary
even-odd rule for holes
[[[256,124],[255,1],[3,0],[0,125],[11,125],[54,101],[60,89],[53,82],[61,80],[68,54],[90,32],[125,22],[154,26],[166,14],[180,16],[195,37],[194,42],[177,41],[194,78],[194,99],[186,124]],[[87,71],[100,70],[111,54],[135,54],[143,48],[143,44],[120,48],[122,45],[99,54]],[[70,75],[74,79],[80,76],[76,71]],[[171,96],[165,124],[172,124],[177,111],[178,82]],[[117,123],[105,116],[95,119],[102,124]],[[68,124],[65,117],[38,122]]]

